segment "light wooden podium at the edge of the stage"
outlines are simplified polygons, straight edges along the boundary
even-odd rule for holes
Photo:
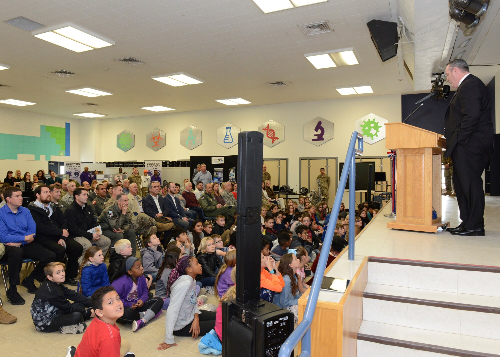
[[[441,221],[441,134],[402,122],[385,126],[385,147],[396,150],[396,220],[387,228],[437,232]],[[432,210],[437,218],[432,219]]]

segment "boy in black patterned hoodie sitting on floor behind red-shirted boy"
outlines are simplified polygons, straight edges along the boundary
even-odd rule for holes
[[[95,316],[93,309],[85,308],[90,307],[88,297],[62,284],[66,277],[65,267],[63,263],[52,261],[43,268],[46,280],[36,290],[30,309],[38,331],[81,333],[87,327],[84,321]]]

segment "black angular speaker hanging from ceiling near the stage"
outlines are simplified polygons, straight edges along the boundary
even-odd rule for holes
[[[397,22],[371,20],[366,26],[382,62],[394,57],[397,54]]]

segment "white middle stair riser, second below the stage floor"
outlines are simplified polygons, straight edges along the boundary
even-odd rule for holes
[[[363,298],[363,320],[500,339],[500,314]]]

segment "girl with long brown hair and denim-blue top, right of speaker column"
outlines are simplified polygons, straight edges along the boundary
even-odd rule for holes
[[[298,298],[302,293],[298,290],[299,277],[297,276],[297,269],[300,266],[300,260],[297,259],[295,254],[284,254],[279,261],[278,270],[283,275],[284,287],[276,293],[272,301],[282,308],[286,308],[293,312],[295,316],[295,323],[298,322]]]

